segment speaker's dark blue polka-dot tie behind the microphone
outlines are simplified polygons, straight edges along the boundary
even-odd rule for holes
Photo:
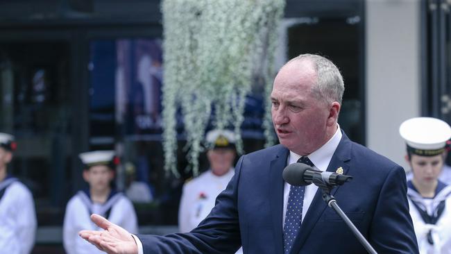
[[[298,162],[304,163],[313,167],[313,163],[305,157],[299,158]],[[300,221],[303,218],[303,203],[304,203],[305,186],[290,187],[288,195],[287,212],[285,214],[284,223],[284,253],[291,251],[294,240],[300,230]]]

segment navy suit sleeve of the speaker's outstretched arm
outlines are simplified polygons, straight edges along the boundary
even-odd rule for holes
[[[237,162],[235,176],[216,198],[212,212],[191,232],[165,235],[137,235],[144,254],[235,253],[241,246],[237,212],[237,187],[243,157]]]

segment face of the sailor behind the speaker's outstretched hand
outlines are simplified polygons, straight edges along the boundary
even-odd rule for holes
[[[105,165],[92,166],[83,171],[83,178],[90,184],[90,188],[96,191],[108,189],[113,177],[113,171]]]

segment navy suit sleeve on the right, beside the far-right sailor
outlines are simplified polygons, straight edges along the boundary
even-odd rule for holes
[[[380,189],[369,241],[378,253],[418,253],[402,167],[389,171]]]

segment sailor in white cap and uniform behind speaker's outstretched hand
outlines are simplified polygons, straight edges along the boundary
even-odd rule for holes
[[[100,229],[92,223],[90,215],[101,214],[132,233],[138,232],[137,217],[130,200],[110,187],[118,162],[114,151],[81,153],[80,159],[85,164],[83,178],[90,189],[79,191],[67,203],[63,244],[68,254],[103,253],[78,236],[78,232],[86,228]]]

